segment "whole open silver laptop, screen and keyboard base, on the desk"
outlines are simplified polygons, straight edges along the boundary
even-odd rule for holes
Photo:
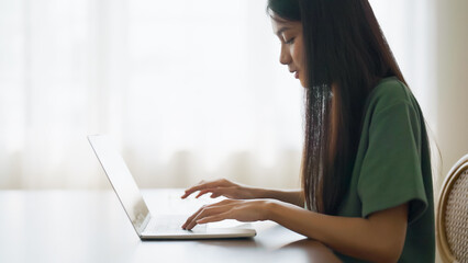
[[[229,239],[252,238],[256,235],[255,229],[250,228],[207,228],[207,225],[183,230],[181,226],[189,215],[153,216],[129,168],[110,138],[105,135],[90,135],[88,140],[141,240]]]

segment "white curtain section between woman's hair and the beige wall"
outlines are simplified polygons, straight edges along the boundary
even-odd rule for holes
[[[369,0],[393,55],[436,130],[436,0]]]

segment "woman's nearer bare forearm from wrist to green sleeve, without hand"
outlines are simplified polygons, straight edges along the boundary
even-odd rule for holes
[[[367,219],[327,216],[276,202],[266,211],[270,220],[292,231],[371,262],[397,262],[406,236],[408,204],[374,213]]]

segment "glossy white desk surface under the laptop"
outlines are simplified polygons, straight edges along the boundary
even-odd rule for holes
[[[174,211],[180,194],[143,191],[154,214]],[[0,191],[0,262],[339,262],[270,221],[254,222],[253,239],[141,241],[111,191]]]

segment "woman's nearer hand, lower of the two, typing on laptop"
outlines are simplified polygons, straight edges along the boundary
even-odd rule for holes
[[[236,219],[238,221],[267,220],[268,199],[224,199],[215,204],[204,205],[183,224],[186,230],[192,229],[197,224]]]

